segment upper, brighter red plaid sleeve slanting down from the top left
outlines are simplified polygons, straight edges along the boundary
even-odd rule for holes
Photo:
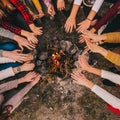
[[[20,0],[10,0],[10,2],[20,11],[28,25],[33,23],[32,16]]]

